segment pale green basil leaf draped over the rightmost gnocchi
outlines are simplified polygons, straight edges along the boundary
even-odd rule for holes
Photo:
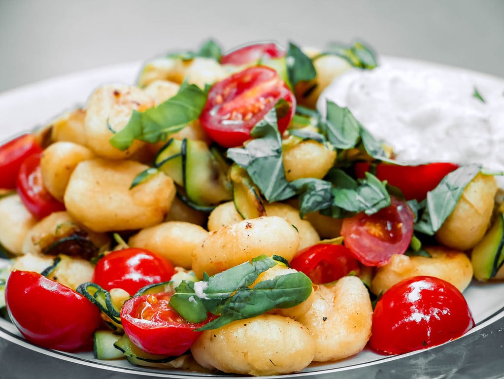
[[[432,191],[427,193],[425,208],[414,229],[427,235],[433,235],[439,230],[453,212],[467,184],[480,170],[481,166],[470,164],[446,175]]]

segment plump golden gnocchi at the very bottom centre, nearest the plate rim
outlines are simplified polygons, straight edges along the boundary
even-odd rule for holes
[[[206,368],[247,375],[299,371],[313,359],[313,338],[300,323],[274,314],[234,321],[207,330],[192,346]]]

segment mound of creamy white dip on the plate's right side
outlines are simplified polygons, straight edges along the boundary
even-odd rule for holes
[[[485,102],[473,96],[475,89]],[[504,81],[467,71],[392,61],[352,70],[321,95],[347,106],[398,160],[476,162],[504,169]]]

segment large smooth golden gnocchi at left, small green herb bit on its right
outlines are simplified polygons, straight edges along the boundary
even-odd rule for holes
[[[175,186],[171,178],[157,173],[130,189],[133,179],[147,168],[129,160],[81,162],[65,192],[68,213],[97,232],[141,229],[160,223],[170,209]]]

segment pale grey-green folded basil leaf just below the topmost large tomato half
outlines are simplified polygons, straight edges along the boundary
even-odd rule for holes
[[[227,157],[244,168],[270,203],[288,199],[295,191],[285,177],[282,138],[273,108],[250,132],[255,138],[243,148],[227,150]]]

